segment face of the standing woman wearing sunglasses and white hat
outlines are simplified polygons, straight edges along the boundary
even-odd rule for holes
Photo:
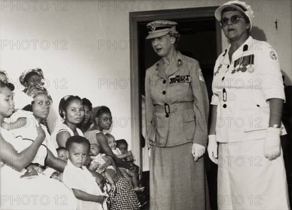
[[[229,40],[245,40],[245,37],[248,36],[250,24],[246,23],[246,19],[240,11],[236,10],[224,12],[220,22],[222,25],[222,30]],[[241,44],[243,44],[243,42]]]

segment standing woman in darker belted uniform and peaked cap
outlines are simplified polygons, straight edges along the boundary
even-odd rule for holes
[[[208,95],[199,62],[175,50],[176,22],[147,24],[161,59],[146,70],[150,210],[209,209],[204,161]]]

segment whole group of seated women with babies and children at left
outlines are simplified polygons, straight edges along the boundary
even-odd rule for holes
[[[52,97],[43,79],[41,69],[23,72],[25,88],[14,95],[0,71],[2,208],[138,210],[144,187],[127,163],[132,154],[103,132],[111,127],[110,109],[65,96],[59,102],[64,121],[50,132]]]

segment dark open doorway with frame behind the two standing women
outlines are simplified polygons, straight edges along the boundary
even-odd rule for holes
[[[145,129],[145,117],[142,116],[142,95],[145,95],[146,69],[157,62],[160,57],[156,55],[151,46],[151,40],[146,40],[148,29],[146,24],[154,20],[171,20],[178,23],[177,31],[181,38],[177,50],[183,55],[199,61],[206,82],[209,100],[212,96],[213,68],[215,61],[221,53],[221,27],[215,19],[214,13],[218,7],[201,7],[173,10],[159,10],[129,13],[130,22],[130,72],[131,72],[131,116],[138,119],[132,128],[132,151],[139,154],[141,169],[146,166],[146,156],[143,153],[143,138],[140,138]],[[140,126],[139,126],[140,125]],[[140,141],[139,141],[140,140]],[[146,144],[147,147],[147,144]],[[209,160],[205,153],[205,160]],[[217,180],[217,167],[213,162],[206,161],[206,171],[209,180]],[[215,173],[214,173],[215,172]],[[210,177],[211,176],[211,177]],[[148,174],[143,173],[143,183],[147,196]],[[210,183],[210,182],[209,182]],[[217,181],[209,184],[210,202],[212,209],[217,208]],[[212,193],[212,192],[215,192]],[[214,203],[214,201],[216,201]],[[213,204],[213,205],[212,205]]]

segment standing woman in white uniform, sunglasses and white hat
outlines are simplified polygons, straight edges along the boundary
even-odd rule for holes
[[[215,17],[230,42],[216,61],[212,85],[208,153],[219,166],[218,208],[289,209],[277,53],[249,35],[254,13],[245,2],[229,1]]]

